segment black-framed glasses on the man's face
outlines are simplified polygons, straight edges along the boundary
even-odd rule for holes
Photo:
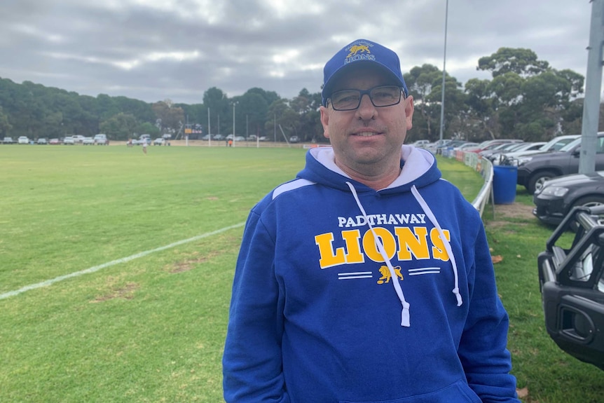
[[[369,90],[341,90],[329,97],[334,111],[354,111],[357,109],[363,95],[369,95],[369,100],[376,108],[392,107],[401,102],[403,89],[399,86],[377,86]]]

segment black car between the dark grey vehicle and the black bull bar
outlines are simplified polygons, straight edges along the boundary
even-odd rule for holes
[[[558,225],[573,207],[604,205],[604,171],[563,175],[544,182],[533,196],[533,214],[544,224]]]

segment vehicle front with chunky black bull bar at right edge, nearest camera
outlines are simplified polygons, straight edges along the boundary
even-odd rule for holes
[[[561,350],[604,370],[604,207],[576,207],[537,257],[545,329]],[[572,245],[563,237],[578,223]]]

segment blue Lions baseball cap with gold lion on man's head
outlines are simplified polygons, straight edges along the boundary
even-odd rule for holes
[[[394,51],[381,46],[379,43],[357,39],[344,46],[338,53],[329,59],[323,69],[323,90],[321,97],[323,106],[327,106],[327,98],[331,95],[336,78],[350,66],[358,66],[359,63],[375,66],[389,74],[398,86],[403,88],[405,97],[409,96],[409,90],[401,73],[401,62]]]

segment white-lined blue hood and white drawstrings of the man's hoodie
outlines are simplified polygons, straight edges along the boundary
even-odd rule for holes
[[[325,170],[327,168],[328,170]],[[446,239],[444,232],[437,220],[437,217],[427,205],[424,198],[418,191],[418,187],[427,186],[440,179],[441,173],[437,169],[436,159],[429,151],[423,149],[416,149],[413,146],[402,146],[401,147],[401,172],[394,182],[387,186],[385,189],[380,189],[379,193],[401,193],[409,192],[413,194],[413,197],[417,200],[422,210],[425,212],[426,217],[430,219],[432,225],[437,228],[439,236],[444,243],[445,250],[451,259],[451,265],[454,274],[453,294],[457,300],[457,306],[462,305],[462,297],[459,292],[459,277],[458,269],[455,261],[455,256],[451,248],[451,243]],[[392,265],[390,258],[385,252],[385,248],[381,238],[378,236],[376,231],[373,229],[371,220],[368,218],[361,200],[359,199],[358,193],[373,191],[360,182],[357,182],[350,178],[343,170],[341,170],[335,163],[334,150],[331,147],[319,147],[311,149],[306,154],[306,168],[298,174],[298,178],[305,179],[306,184],[319,183],[326,186],[341,189],[343,191],[350,191],[352,197],[355,198],[359,211],[365,219],[366,225],[369,226],[370,231],[373,233],[373,238],[376,240],[376,247],[383,257],[384,262],[390,271],[390,277],[392,278],[392,286],[399,297],[399,301],[402,305],[401,312],[401,326],[411,326],[410,321],[410,303],[406,301],[403,290],[397,277],[394,266]]]

